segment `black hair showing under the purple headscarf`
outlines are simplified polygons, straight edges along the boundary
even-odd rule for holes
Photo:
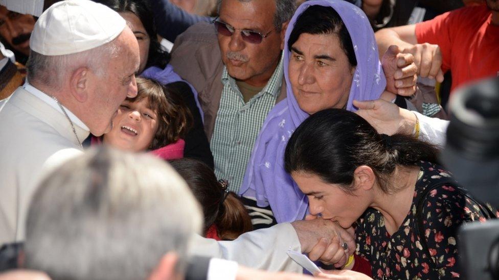
[[[338,36],[339,43],[350,65],[352,67],[357,66],[357,58],[353,50],[350,33],[345,26],[345,22],[333,8],[319,5],[310,6],[297,18],[288,39],[288,50],[290,52],[291,46],[298,41],[302,33],[335,34]]]

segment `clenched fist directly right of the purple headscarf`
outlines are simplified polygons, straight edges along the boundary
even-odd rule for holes
[[[416,92],[418,67],[412,54],[404,54],[396,45],[391,45],[381,58],[387,90],[403,96]]]

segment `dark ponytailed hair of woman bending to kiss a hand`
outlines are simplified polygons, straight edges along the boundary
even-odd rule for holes
[[[397,166],[416,166],[420,161],[436,163],[435,146],[409,135],[387,136],[357,114],[327,109],[306,119],[286,146],[284,165],[288,173],[305,171],[324,182],[353,192],[353,173],[361,165],[371,167],[381,190],[394,193],[389,176]]]

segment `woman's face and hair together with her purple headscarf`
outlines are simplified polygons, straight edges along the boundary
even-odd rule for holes
[[[270,206],[277,222],[303,219],[308,209],[283,167],[293,131],[323,109],[355,111],[354,99],[377,99],[386,87],[369,20],[348,2],[302,4],[289,22],[284,52],[287,98],[269,112],[239,191],[259,207]]]

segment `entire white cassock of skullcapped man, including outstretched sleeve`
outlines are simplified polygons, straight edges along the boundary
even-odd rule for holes
[[[87,126],[67,108],[79,139]],[[92,110],[89,110],[91,113]],[[55,100],[29,84],[0,102],[0,244],[24,240],[30,199],[43,173],[82,153]],[[67,186],[71,188],[71,186]],[[191,254],[229,259],[240,265],[271,271],[301,272],[286,249],[300,251],[298,236],[289,223],[241,235],[235,241],[216,242],[197,237]]]

